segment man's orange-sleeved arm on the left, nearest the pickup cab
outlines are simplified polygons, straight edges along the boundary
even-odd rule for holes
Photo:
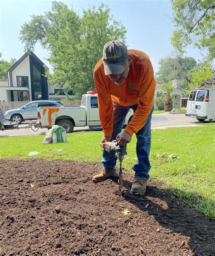
[[[110,137],[113,129],[113,105],[111,95],[107,87],[99,79],[98,73],[94,73],[94,82],[98,94],[98,113],[103,128],[104,137]]]

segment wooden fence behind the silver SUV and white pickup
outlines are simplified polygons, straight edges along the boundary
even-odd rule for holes
[[[61,101],[65,106],[80,106],[80,100],[73,100],[73,101]],[[29,101],[12,101],[12,102],[0,102],[0,109],[3,113],[5,111],[15,108],[21,108],[25,104],[29,103]]]

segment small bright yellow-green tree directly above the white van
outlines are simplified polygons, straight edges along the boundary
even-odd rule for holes
[[[186,90],[186,95],[190,93],[191,90],[195,89],[197,85],[200,85],[203,80],[211,78],[213,75],[210,62],[200,63],[196,66],[192,72],[191,83],[189,84],[189,90]]]

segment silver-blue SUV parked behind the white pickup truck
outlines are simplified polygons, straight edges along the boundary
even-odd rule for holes
[[[32,101],[21,108],[11,109],[5,112],[4,118],[11,122],[22,123],[24,120],[36,120],[37,108],[39,107],[62,107],[62,103],[57,101]]]

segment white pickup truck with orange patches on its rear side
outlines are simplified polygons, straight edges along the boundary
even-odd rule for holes
[[[124,126],[132,119],[133,111],[127,113]],[[98,117],[97,94],[83,94],[81,106],[78,107],[40,107],[37,110],[35,128],[51,128],[60,125],[67,133],[72,133],[74,127],[101,127]]]

